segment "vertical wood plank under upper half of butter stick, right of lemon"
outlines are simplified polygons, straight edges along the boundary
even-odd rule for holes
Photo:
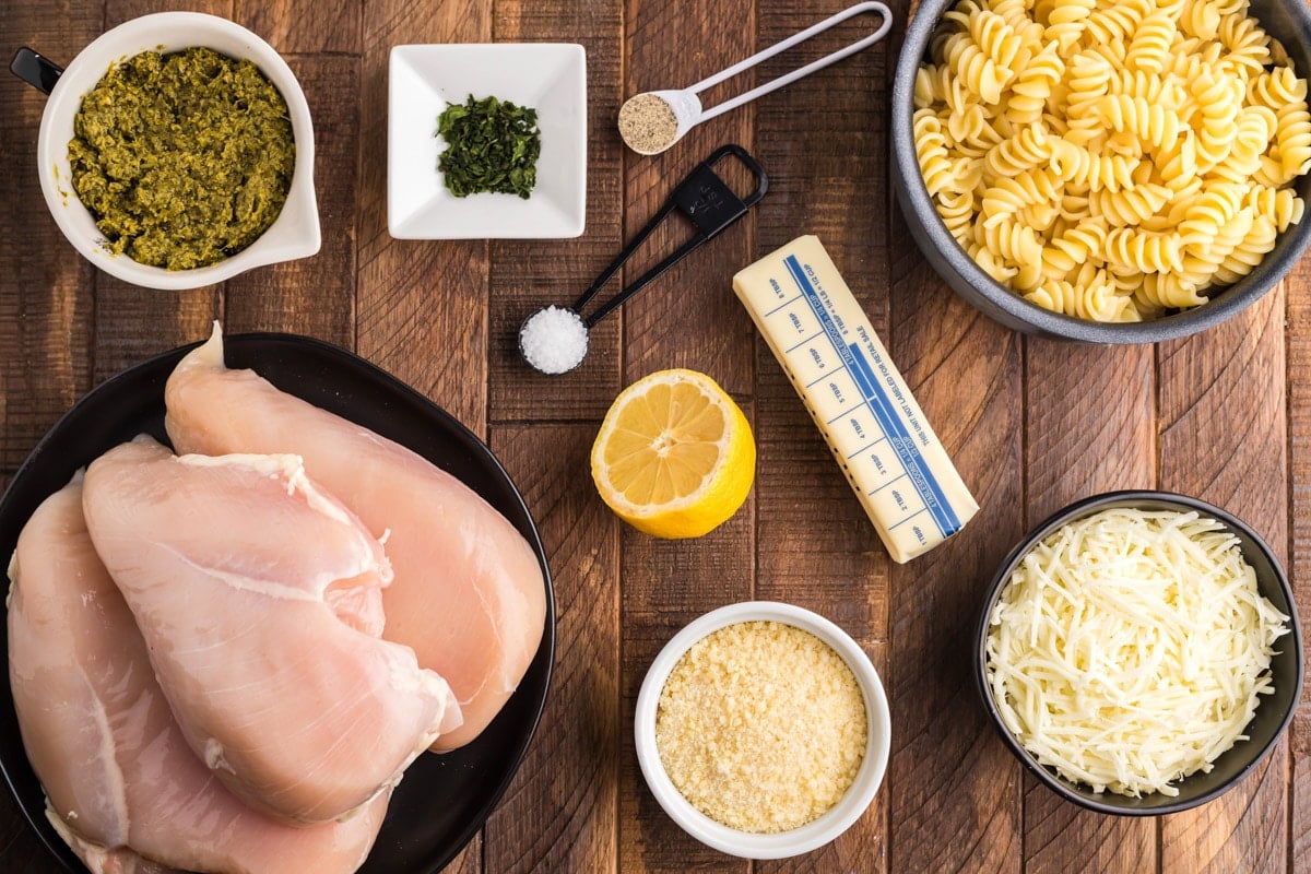
[[[840,3],[762,4],[760,47],[836,12]],[[878,25],[860,16],[764,62],[768,81],[821,58]],[[815,73],[756,104],[756,157],[770,193],[755,211],[756,256],[815,233],[886,335],[888,157],[880,147],[886,117],[888,56],[882,47]],[[822,132],[821,132],[822,131]],[[889,676],[890,560],[818,428],[763,341],[756,341],[756,590],[755,596],[813,609],[850,633]],[[759,871],[888,870],[886,789],[842,837],[812,853],[760,862]]]

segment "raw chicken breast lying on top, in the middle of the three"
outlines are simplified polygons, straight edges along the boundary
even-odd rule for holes
[[[248,805],[346,815],[459,723],[440,676],[361,630],[387,560],[300,459],[138,439],[88,468],[83,508],[182,734]]]

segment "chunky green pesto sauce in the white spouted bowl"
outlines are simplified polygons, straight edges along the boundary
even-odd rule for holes
[[[72,185],[106,246],[168,270],[245,249],[286,203],[296,161],[287,104],[249,60],[146,51],[83,97]]]

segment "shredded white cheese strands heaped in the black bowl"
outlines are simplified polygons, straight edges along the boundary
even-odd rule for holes
[[[990,616],[992,697],[1040,763],[1093,791],[1177,795],[1272,691],[1287,616],[1197,512],[1105,510],[1025,554]]]

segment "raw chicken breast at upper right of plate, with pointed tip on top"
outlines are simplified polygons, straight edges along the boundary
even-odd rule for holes
[[[396,580],[383,592],[383,637],[412,647],[451,684],[464,725],[454,750],[501,710],[541,642],[545,586],[528,542],[459,480],[372,431],[223,363],[215,325],[164,392],[181,452],[294,452],[305,470],[385,535]]]

